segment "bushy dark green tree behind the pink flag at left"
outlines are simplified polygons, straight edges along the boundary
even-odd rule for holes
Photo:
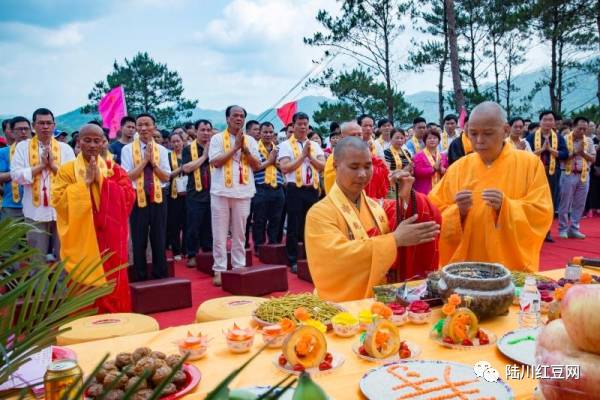
[[[197,100],[183,97],[183,81],[176,71],[170,71],[166,64],[154,61],[144,52],[136,54],[131,61],[126,58],[123,64],[115,61],[106,80],[96,82],[88,94],[90,103],[84,112],[95,111],[100,99],[119,85],[125,87],[130,115],[152,113],[157,124],[165,128],[190,118],[198,104]]]

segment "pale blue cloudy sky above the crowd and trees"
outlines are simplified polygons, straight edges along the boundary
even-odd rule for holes
[[[258,113],[313,68],[322,50],[302,43],[334,0],[3,0],[0,3],[0,114],[56,114],[87,102],[114,60],[138,51],[179,72],[201,108],[231,103]],[[410,33],[410,28],[408,29]],[[406,36],[408,42],[409,36]],[[404,42],[404,41],[403,41]],[[405,53],[405,49],[399,49]],[[537,46],[525,70],[543,62]],[[336,66],[350,65],[338,59]],[[435,90],[436,75],[399,76],[406,93]],[[291,94],[327,94],[317,89]]]

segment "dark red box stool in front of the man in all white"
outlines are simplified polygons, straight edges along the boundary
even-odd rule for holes
[[[285,265],[258,265],[221,272],[222,288],[226,292],[243,296],[264,296],[288,289]]]

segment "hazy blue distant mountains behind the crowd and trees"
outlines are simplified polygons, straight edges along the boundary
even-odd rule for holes
[[[543,70],[518,75],[515,77],[514,83],[520,89],[515,92],[515,99],[513,104],[519,105],[522,99],[524,99],[533,89],[535,82],[540,80],[546,73]],[[491,88],[492,84],[482,85],[485,90]],[[573,92],[569,93],[563,103],[563,109],[572,111],[591,99],[595,99],[596,91],[596,78],[592,74],[581,73],[577,78],[577,87]],[[437,92],[434,91],[423,91],[414,94],[406,95],[406,99],[409,103],[415,107],[423,110],[423,117],[428,121],[435,121],[438,119],[438,99]],[[334,101],[334,99],[323,97],[323,96],[305,96],[298,99],[298,111],[307,113],[310,117],[319,109],[319,103],[324,101]],[[548,108],[550,104],[548,89],[544,88],[538,93],[531,103],[531,115],[535,116],[537,111],[543,108]],[[448,112],[450,110],[447,110]],[[8,115],[0,115],[0,120],[11,117]],[[56,124],[58,129],[72,132],[78,130],[83,124],[92,120],[98,119],[97,114],[82,114],[80,109],[70,111],[66,114],[59,115],[56,118]],[[225,111],[224,110],[209,110],[197,108],[193,111],[192,116],[189,118],[190,121],[196,121],[198,119],[208,119],[215,127],[222,129],[225,127]],[[277,112],[270,108],[259,115],[248,114],[246,120],[257,119],[259,121],[269,121],[273,123],[276,130],[281,129],[282,123],[277,116]]]

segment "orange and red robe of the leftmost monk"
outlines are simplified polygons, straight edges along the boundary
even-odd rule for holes
[[[60,167],[52,186],[61,259],[73,280],[92,286],[106,283],[106,273],[127,263],[128,218],[135,200],[131,181],[118,164],[101,157],[97,163],[100,184],[85,184],[87,162],[80,153]],[[109,254],[101,264],[102,257]],[[81,265],[75,269],[78,263]],[[106,278],[114,283],[114,290],[96,300],[98,311],[130,312],[127,269]]]

